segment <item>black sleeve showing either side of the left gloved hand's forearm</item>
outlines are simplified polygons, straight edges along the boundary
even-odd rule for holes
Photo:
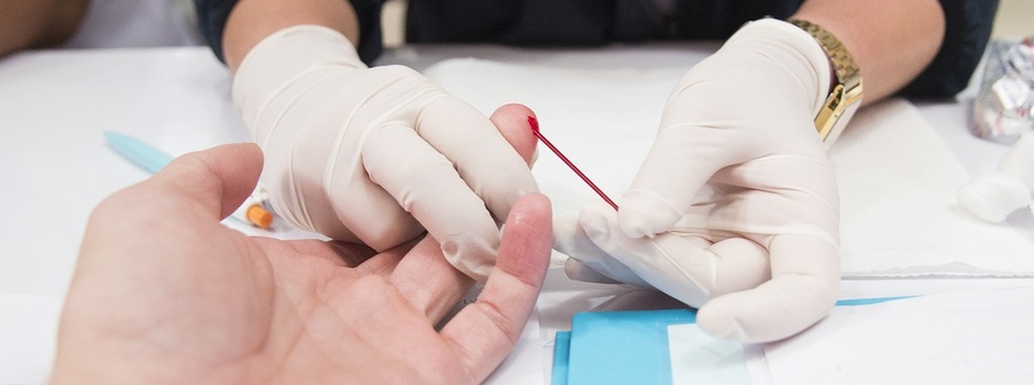
[[[344,0],[342,0],[344,1]],[[381,37],[381,6],[382,0],[348,0],[355,9],[359,19],[360,42],[356,51],[359,57],[367,65],[372,63],[384,48]],[[197,10],[198,29],[205,42],[212,48],[219,61],[223,61],[222,33],[230,18],[230,10],[238,0],[194,0]]]

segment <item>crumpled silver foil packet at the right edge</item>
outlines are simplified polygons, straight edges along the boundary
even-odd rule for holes
[[[1034,129],[1034,36],[993,40],[972,109],[972,133],[1002,143]]]

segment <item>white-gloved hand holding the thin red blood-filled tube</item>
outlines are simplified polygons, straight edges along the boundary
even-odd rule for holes
[[[813,123],[829,84],[811,35],[744,26],[675,87],[620,209],[554,224],[569,276],[660,289],[717,338],[771,341],[821,319],[839,284],[839,202]]]

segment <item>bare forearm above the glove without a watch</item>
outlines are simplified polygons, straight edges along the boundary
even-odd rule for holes
[[[348,1],[341,0],[241,0],[227,20],[223,53],[231,72],[255,44],[270,34],[298,24],[323,25],[359,45],[359,21]]]

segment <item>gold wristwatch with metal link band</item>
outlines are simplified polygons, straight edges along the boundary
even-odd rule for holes
[[[815,116],[815,129],[818,130],[823,144],[828,148],[840,136],[844,127],[861,106],[861,73],[858,70],[855,58],[847,52],[847,47],[829,31],[804,20],[790,19],[788,22],[812,35],[833,63],[836,85],[833,86],[825,103]]]

